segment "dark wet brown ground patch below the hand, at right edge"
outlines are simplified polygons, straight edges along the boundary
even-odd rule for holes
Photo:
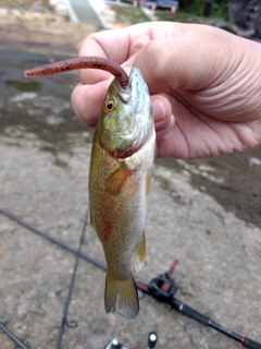
[[[194,161],[160,159],[159,164],[190,172],[191,184],[213,196],[239,219],[261,227],[261,148]]]

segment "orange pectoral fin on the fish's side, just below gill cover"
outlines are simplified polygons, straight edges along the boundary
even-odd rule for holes
[[[105,191],[111,195],[119,195],[126,181],[135,173],[125,165],[120,166],[105,181]]]

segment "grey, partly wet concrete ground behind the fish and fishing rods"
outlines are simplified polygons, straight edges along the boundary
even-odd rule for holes
[[[1,15],[0,208],[77,249],[88,209],[91,140],[70,95],[77,74],[23,77],[27,68],[76,56],[96,31],[49,15]],[[149,281],[175,258],[176,298],[261,342],[261,151],[201,161],[158,160],[147,224]],[[104,262],[87,227],[83,252]],[[34,349],[55,348],[75,257],[0,215],[0,322]],[[136,321],[107,315],[104,272],[80,260],[62,348],[98,349],[116,337],[146,348],[236,349],[240,344],[150,297]],[[17,346],[0,330],[0,348]]]

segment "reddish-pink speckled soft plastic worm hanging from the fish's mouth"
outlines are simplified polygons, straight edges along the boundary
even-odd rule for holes
[[[70,70],[76,69],[100,69],[104,70],[112,75],[115,76],[119,84],[126,88],[128,84],[128,76],[124,69],[119,65],[116,62],[102,58],[102,57],[78,57],[78,58],[71,58],[64,61],[54,62],[50,64],[46,64],[42,67],[36,67],[24,72],[26,77],[30,76],[45,76],[45,75],[52,75],[58,73],[63,73]]]

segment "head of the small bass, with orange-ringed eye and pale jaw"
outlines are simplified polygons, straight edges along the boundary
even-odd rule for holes
[[[148,86],[138,68],[133,68],[124,89],[111,83],[96,133],[100,145],[116,158],[136,153],[153,129],[153,113]]]

